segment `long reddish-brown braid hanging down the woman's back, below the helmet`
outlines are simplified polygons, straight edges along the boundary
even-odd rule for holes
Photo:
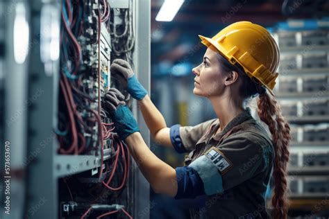
[[[280,105],[275,98],[266,92],[260,94],[258,100],[258,115],[269,126],[274,145],[274,192],[272,197],[273,218],[287,218],[287,162],[289,161],[290,127],[283,119]]]

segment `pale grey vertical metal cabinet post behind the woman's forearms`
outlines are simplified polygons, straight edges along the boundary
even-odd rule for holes
[[[137,78],[151,94],[151,0],[138,0],[135,2],[135,51],[134,63]],[[150,146],[150,132],[144,122],[142,113],[137,114],[142,137],[147,146]],[[149,182],[142,175],[133,162],[135,172],[134,213],[135,218],[149,219],[150,199]]]

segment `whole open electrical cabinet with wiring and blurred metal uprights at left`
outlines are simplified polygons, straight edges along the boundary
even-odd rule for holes
[[[145,125],[110,65],[127,60],[149,81],[151,1],[0,6],[0,139],[12,146],[10,215],[1,211],[0,218],[132,218],[146,211],[149,184],[102,103],[109,89],[119,89]],[[139,55],[137,47],[144,49]],[[149,144],[149,133],[140,132]],[[6,195],[0,199],[3,209]]]

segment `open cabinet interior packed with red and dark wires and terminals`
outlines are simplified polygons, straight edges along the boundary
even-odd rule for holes
[[[110,87],[117,87],[110,74],[112,37],[133,31],[131,10],[112,8],[106,0],[62,2],[58,153],[94,156],[99,166],[58,180],[60,218],[131,217],[129,150],[101,104]],[[126,19],[117,25],[118,17]],[[132,60],[131,53],[125,55]]]

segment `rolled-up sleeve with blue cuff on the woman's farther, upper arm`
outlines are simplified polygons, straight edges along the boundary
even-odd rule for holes
[[[170,128],[170,140],[175,150],[179,153],[194,150],[196,143],[203,137],[210,126],[218,119],[211,119],[194,126],[180,126],[178,124]]]

